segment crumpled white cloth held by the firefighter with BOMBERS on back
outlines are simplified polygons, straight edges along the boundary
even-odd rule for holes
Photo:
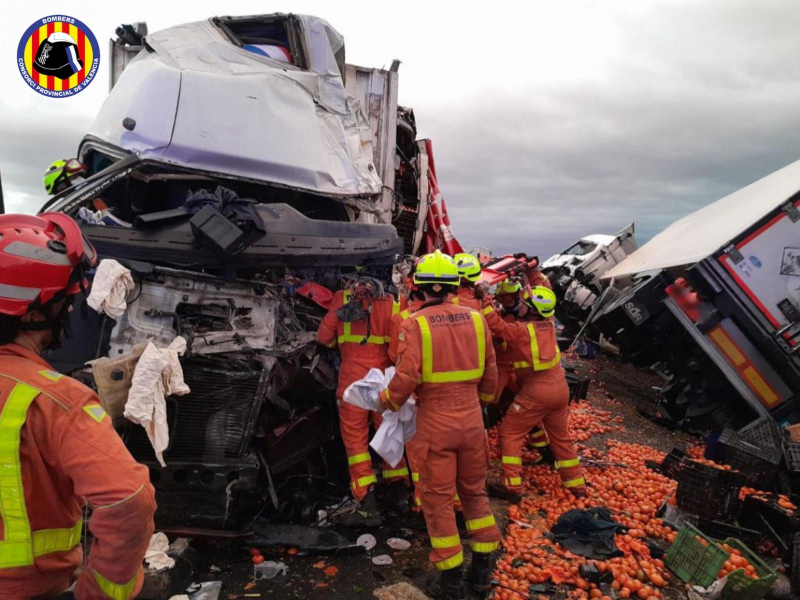
[[[384,373],[380,369],[370,369],[365,378],[353,382],[347,387],[342,398],[354,406],[366,410],[381,410],[378,394],[389,386],[394,377],[394,366]],[[409,398],[396,413],[386,410],[382,414],[383,422],[370,442],[370,446],[383,460],[396,466],[402,459],[406,443],[417,432],[417,403]]]

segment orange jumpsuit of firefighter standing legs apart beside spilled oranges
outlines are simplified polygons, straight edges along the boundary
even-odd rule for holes
[[[586,489],[578,451],[570,438],[570,389],[561,365],[552,318],[506,322],[487,304],[484,313],[492,333],[508,342],[519,392],[498,429],[503,484],[522,492],[522,445],[531,427],[540,422],[550,438],[550,449],[562,484],[574,492]]]

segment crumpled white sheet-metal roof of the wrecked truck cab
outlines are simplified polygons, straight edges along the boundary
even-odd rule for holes
[[[211,20],[148,35],[153,51],[126,67],[89,136],[141,158],[378,202],[369,118],[334,56],[342,36],[296,17],[309,70],[234,45]]]

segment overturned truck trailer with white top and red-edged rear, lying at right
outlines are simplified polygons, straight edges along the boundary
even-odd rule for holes
[[[663,230],[603,278],[593,326],[670,374],[662,414],[800,421],[800,162]]]

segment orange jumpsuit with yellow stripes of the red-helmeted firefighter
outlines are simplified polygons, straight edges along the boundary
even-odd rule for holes
[[[83,562],[78,600],[127,600],[142,587],[155,498],[92,390],[37,354],[0,346],[0,598],[60,594]]]

